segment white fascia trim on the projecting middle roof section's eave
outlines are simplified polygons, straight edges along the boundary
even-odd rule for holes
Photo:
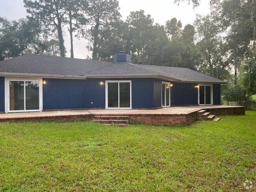
[[[158,78],[169,81],[181,81],[181,79],[161,74],[130,74],[130,75],[87,75],[86,78]]]

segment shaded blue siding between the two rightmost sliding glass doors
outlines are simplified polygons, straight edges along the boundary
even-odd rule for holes
[[[197,83],[173,83],[171,105],[198,105]]]

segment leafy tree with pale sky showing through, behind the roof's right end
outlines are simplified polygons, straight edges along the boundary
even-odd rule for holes
[[[230,58],[228,46],[220,34],[221,27],[210,15],[197,16],[195,26],[198,33],[197,46],[202,52],[203,60],[200,71],[219,79],[227,79]]]

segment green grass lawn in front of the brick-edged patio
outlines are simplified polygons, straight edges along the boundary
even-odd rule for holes
[[[256,112],[186,127],[0,124],[0,191],[239,191],[256,184]]]

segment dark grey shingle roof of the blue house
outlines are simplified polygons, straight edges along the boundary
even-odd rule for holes
[[[225,83],[188,68],[113,63],[67,57],[25,54],[0,62],[0,74],[38,74],[59,76],[161,75],[192,82]]]

